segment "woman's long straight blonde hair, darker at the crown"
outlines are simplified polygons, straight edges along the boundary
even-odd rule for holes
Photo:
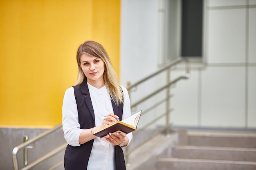
[[[80,57],[83,53],[90,54],[94,57],[100,57],[105,63],[105,71],[103,73],[103,78],[108,89],[108,93],[110,94],[111,99],[116,103],[124,103],[124,95],[121,86],[117,81],[117,74],[110,62],[108,57],[108,53],[103,48],[103,46],[94,41],[86,41],[81,44],[76,53],[76,61],[78,65],[78,74],[75,85],[81,84],[86,80],[85,74],[81,68],[81,60]]]

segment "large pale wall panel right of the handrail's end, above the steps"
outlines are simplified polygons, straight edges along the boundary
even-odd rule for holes
[[[202,72],[202,126],[244,127],[245,68],[214,67]]]

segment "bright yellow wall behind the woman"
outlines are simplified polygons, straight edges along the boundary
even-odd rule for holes
[[[101,43],[119,75],[120,0],[0,1],[0,126],[61,123],[76,49]]]

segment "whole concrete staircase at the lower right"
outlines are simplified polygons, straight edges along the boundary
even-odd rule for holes
[[[256,132],[189,130],[157,170],[256,170]]]

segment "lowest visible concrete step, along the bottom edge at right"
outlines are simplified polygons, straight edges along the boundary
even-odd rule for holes
[[[159,158],[155,168],[157,170],[256,170],[256,162]]]

